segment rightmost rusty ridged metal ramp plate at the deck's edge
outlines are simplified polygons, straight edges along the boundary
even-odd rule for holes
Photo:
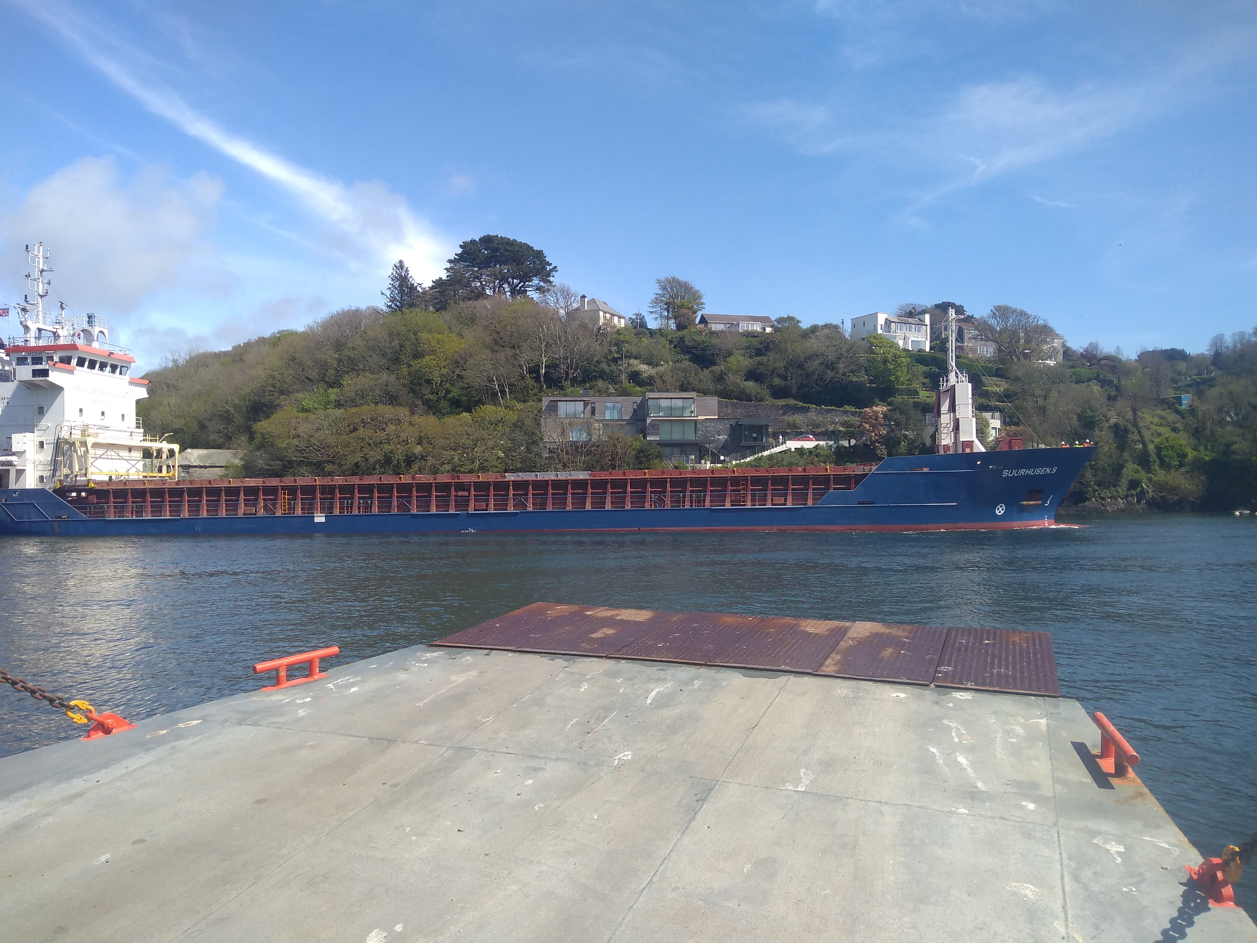
[[[948,629],[934,684],[1061,697],[1047,632]]]

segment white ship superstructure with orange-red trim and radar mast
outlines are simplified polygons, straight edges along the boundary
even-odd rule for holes
[[[173,479],[178,446],[146,438],[136,415],[148,381],[131,376],[134,357],[109,343],[102,318],[74,318],[64,303],[47,312],[48,253],[26,253],[33,290],[10,306],[23,333],[0,350],[0,489]]]

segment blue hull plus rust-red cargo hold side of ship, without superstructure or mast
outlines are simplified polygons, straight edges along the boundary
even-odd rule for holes
[[[0,493],[0,534],[957,531],[1048,527],[1092,449],[874,466],[116,482]]]

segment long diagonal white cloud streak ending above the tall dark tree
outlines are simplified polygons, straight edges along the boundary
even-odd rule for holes
[[[324,245],[343,255],[348,263],[361,262],[366,249],[371,256],[366,262],[371,268],[402,258],[420,278],[429,279],[440,273],[446,255],[445,241],[417,218],[406,197],[385,184],[343,184],[272,153],[201,114],[173,91],[142,80],[118,57],[106,54],[89,41],[87,26],[67,10],[59,9],[54,16],[43,8],[26,5],[26,9],[60,33],[88,63],[150,112],[295,197],[327,225],[322,240]],[[91,33],[99,35],[96,29]],[[114,45],[123,48],[117,43]]]

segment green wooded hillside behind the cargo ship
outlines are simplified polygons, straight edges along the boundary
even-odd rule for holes
[[[876,454],[931,450],[923,439],[945,370],[939,352],[908,353],[880,336],[851,341],[841,326],[803,327],[792,317],[778,318],[772,333],[706,332],[693,326],[701,292],[675,278],[660,279],[662,327],[636,316],[636,327],[598,329],[567,313],[574,294],[549,283],[544,254],[503,240],[533,279],[520,285],[515,263],[484,248],[502,255],[494,239],[502,238],[469,240],[447,278],[426,289],[398,263],[386,293],[395,311],[339,311],[304,331],[150,371],[150,399],[140,406],[146,430],[184,448],[246,450],[241,474],[249,475],[657,468],[662,451],[640,439],[548,453],[539,401],[582,390],[694,391],[856,407],[864,419],[850,427],[798,431],[856,438]],[[493,267],[476,275],[481,256]],[[509,290],[491,293],[499,282]],[[993,333],[1016,318],[1050,331],[1007,306],[984,323]],[[1045,365],[1023,358],[1018,331],[1001,345],[1003,362],[960,366],[978,409],[1002,412],[1006,431],[1028,443],[1096,443],[1071,503],[1232,509],[1257,500],[1257,333],[1218,336],[1198,355],[1126,358],[1096,345],[1066,347],[1063,363]],[[827,460],[843,458],[851,455]]]

